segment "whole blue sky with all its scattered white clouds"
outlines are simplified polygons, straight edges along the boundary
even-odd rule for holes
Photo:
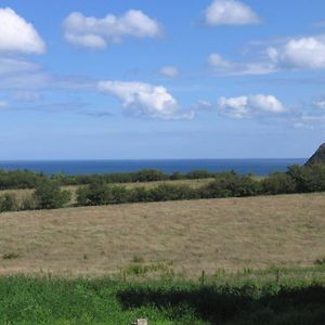
[[[1,0],[0,160],[299,158],[324,0]]]

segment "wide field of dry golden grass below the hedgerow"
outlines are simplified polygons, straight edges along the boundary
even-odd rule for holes
[[[3,259],[3,255],[18,255]],[[0,214],[0,273],[103,275],[171,261],[202,270],[311,265],[325,258],[325,195],[133,204]]]

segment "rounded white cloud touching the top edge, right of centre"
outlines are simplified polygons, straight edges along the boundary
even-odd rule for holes
[[[214,0],[205,12],[206,23],[218,25],[249,25],[260,22],[258,15],[245,3],[235,0]]]

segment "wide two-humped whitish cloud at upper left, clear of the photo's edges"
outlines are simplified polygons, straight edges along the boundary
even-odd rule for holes
[[[125,37],[157,38],[160,25],[140,10],[129,10],[122,16],[87,17],[74,12],[63,23],[65,39],[74,44],[94,50],[105,49]]]

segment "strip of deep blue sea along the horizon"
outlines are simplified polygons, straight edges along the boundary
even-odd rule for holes
[[[303,165],[306,158],[286,159],[147,159],[147,160],[15,160],[0,161],[0,169],[27,169],[46,174],[65,173],[116,173],[134,172],[142,169],[158,169],[166,173],[188,172],[205,169],[210,172],[234,170],[237,173],[266,176],[286,171],[290,165]]]

